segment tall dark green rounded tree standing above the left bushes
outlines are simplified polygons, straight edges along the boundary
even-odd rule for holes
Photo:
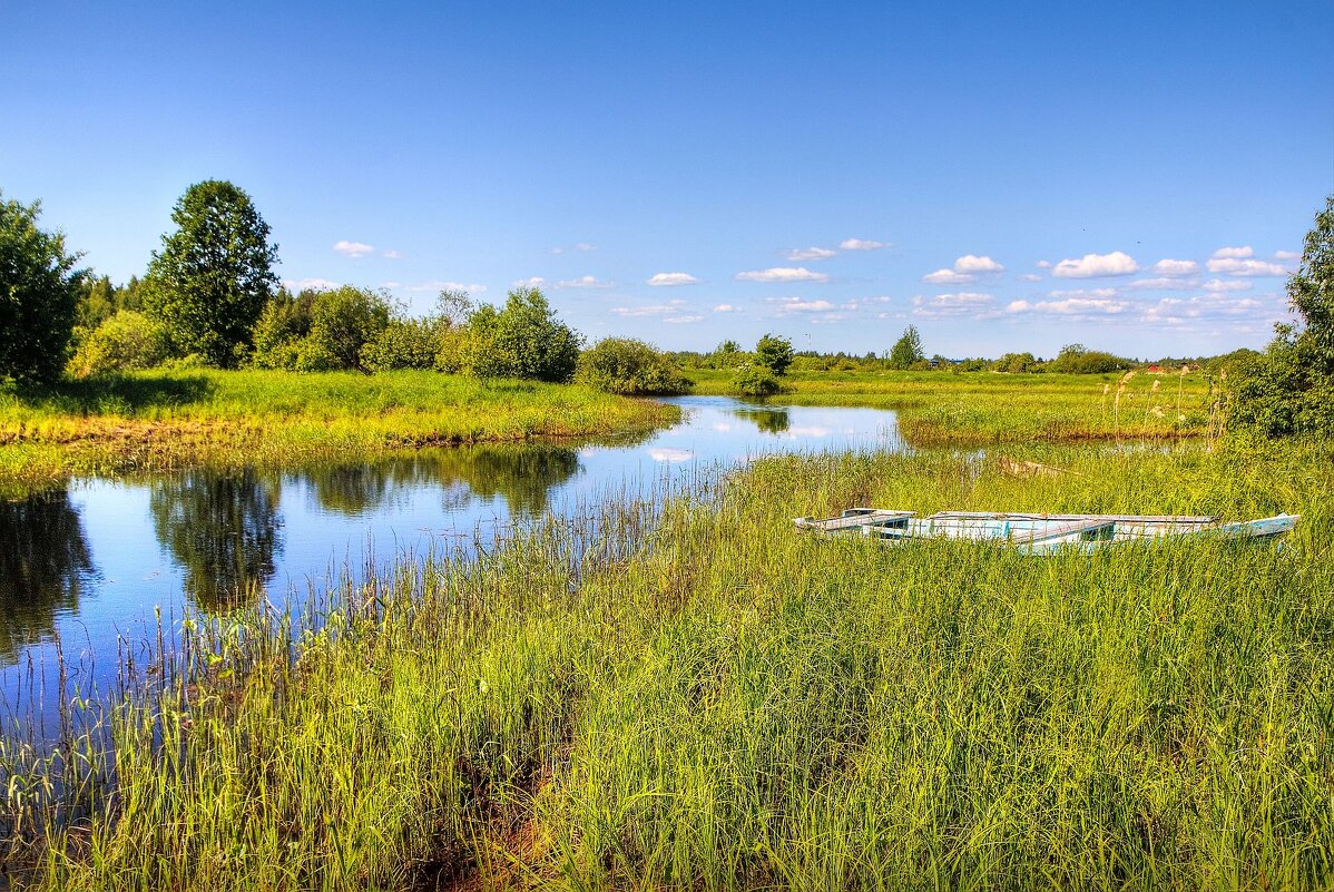
[[[144,309],[179,352],[231,368],[248,352],[277,277],[277,245],[251,197],[225,180],[185,189],[144,283]]]

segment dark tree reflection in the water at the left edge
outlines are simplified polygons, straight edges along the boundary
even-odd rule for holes
[[[0,501],[0,661],[52,637],[56,615],[79,608],[93,564],[69,493]]]

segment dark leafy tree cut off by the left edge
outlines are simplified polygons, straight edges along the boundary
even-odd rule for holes
[[[41,203],[0,192],[0,377],[51,380],[65,367],[87,271],[60,232],[37,228]]]

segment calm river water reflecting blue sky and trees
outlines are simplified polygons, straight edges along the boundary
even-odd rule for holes
[[[59,635],[75,683],[113,672],[155,608],[281,603],[344,568],[471,543],[523,517],[775,452],[899,448],[892,412],[682,397],[683,421],[618,445],[486,445],[374,464],[77,480],[0,501],[0,684],[11,700]],[[247,593],[248,595],[243,595]],[[100,667],[100,669],[99,669]],[[49,669],[48,669],[49,671]]]

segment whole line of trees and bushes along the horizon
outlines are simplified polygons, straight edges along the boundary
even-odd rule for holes
[[[1261,353],[1163,357],[1157,364],[1230,367],[1231,403],[1243,427],[1283,435],[1334,429],[1334,196],[1307,235],[1287,284],[1299,323],[1279,325]],[[768,396],[792,371],[947,369],[952,372],[1110,373],[1146,363],[1067,344],[1050,360],[1030,352],[996,359],[927,357],[908,325],[880,355],[795,352],[764,335],[754,351],[728,339],[708,353],[667,353],[634,339],[584,339],[556,319],[536,288],[503,307],[444,291],[414,317],[384,291],[340,285],[292,293],[273,273],[277,245],[251,197],[224,180],[191,185],[172,209],[175,229],[143,279],[113,285],[80,268],[64,235],[37,225],[40,203],[0,192],[0,379],[53,381],[153,367],[276,368],[364,373],[416,368],[476,377],[564,383],[615,393],[687,392],[682,368],[734,372],[734,391]]]

